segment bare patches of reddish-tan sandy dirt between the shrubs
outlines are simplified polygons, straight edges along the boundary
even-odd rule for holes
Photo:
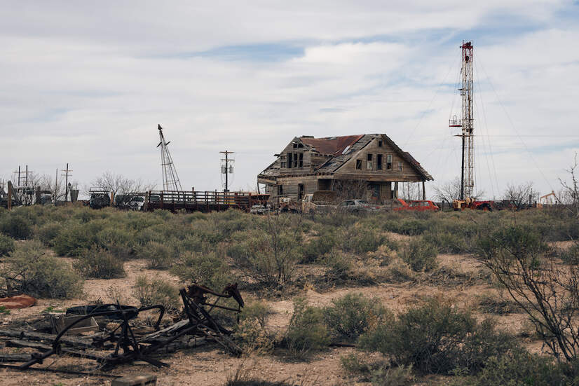
[[[397,236],[400,237],[400,236]],[[65,258],[62,258],[65,259]],[[480,263],[472,256],[441,254],[439,255],[440,265],[453,268],[460,272],[476,273],[480,270]],[[10,315],[0,317],[3,327],[16,320],[25,320],[36,317],[52,307],[57,310],[64,310],[72,305],[81,305],[100,299],[104,302],[112,301],[111,294],[121,294],[129,304],[137,304],[137,300],[132,296],[132,284],[138,275],[145,274],[150,277],[161,275],[179,284],[177,277],[170,275],[166,271],[148,270],[144,261],[133,260],[125,263],[127,277],[114,280],[86,280],[84,284],[84,295],[82,298],[68,301],[56,301],[54,299],[39,299],[38,303],[30,308],[22,310],[12,310]],[[402,283],[402,284],[379,284],[372,287],[349,287],[337,288],[323,293],[313,290],[305,291],[304,295],[312,305],[327,305],[334,298],[339,298],[344,294],[355,291],[364,294],[369,298],[376,298],[386,307],[395,312],[399,312],[416,304],[425,296],[439,296],[440,298],[456,303],[458,306],[475,309],[477,299],[482,294],[495,294],[491,284],[475,284],[471,286],[459,285],[456,287],[434,287],[424,283]],[[244,294],[246,301],[252,301],[252,296]],[[292,314],[292,299],[274,300],[268,302],[273,309],[273,315],[269,324],[274,329],[282,331],[290,321]],[[493,315],[497,319],[501,329],[517,333],[520,336],[529,331],[529,325],[522,314],[511,313],[507,315]],[[540,343],[531,338],[522,338],[526,345],[533,351],[540,351]],[[16,349],[4,349],[16,350]],[[170,364],[170,368],[157,369],[149,364],[137,363],[130,366],[120,366],[111,373],[115,375],[128,374],[156,374],[158,385],[224,385],[228,376],[233,375],[238,369],[249,371],[255,378],[271,381],[287,381],[298,385],[367,385],[349,379],[343,372],[340,365],[340,357],[353,352],[352,347],[332,347],[325,352],[316,354],[311,361],[287,360],[282,352],[258,357],[234,358],[230,354],[219,350],[213,345],[198,347],[190,350],[182,350],[175,354],[169,354],[163,361]],[[22,351],[21,351],[22,352]],[[76,365],[78,359],[67,357],[51,357],[45,361],[43,366],[62,366],[68,364],[71,368],[79,368]],[[424,382],[425,380],[421,380]],[[436,379],[428,381],[437,382]],[[54,373],[35,373],[32,371],[18,372],[7,369],[0,369],[0,385],[22,386],[22,385],[110,385],[110,378],[79,377],[76,375],[62,375]],[[444,381],[442,380],[444,383]]]

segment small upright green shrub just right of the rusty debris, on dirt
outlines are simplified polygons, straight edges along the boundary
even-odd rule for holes
[[[284,342],[290,354],[300,359],[327,347],[330,338],[322,309],[309,306],[305,298],[295,299]]]

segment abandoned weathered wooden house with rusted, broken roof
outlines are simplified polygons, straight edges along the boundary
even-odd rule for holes
[[[341,199],[383,203],[397,198],[399,182],[432,181],[410,155],[384,134],[295,137],[257,176],[271,200],[301,200],[314,191],[337,191]]]

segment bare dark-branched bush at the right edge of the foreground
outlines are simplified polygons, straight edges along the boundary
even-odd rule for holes
[[[482,242],[484,263],[529,317],[555,357],[579,353],[579,272],[563,265],[536,235],[507,228]]]

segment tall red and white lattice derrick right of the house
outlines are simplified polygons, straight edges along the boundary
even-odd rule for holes
[[[461,137],[463,142],[463,154],[461,161],[461,200],[470,197],[475,189],[475,136],[472,134],[472,121],[474,120],[472,109],[472,43],[463,41],[463,65],[461,68],[462,85],[458,90],[462,97],[461,118],[454,116],[450,122],[450,127],[461,127]]]

